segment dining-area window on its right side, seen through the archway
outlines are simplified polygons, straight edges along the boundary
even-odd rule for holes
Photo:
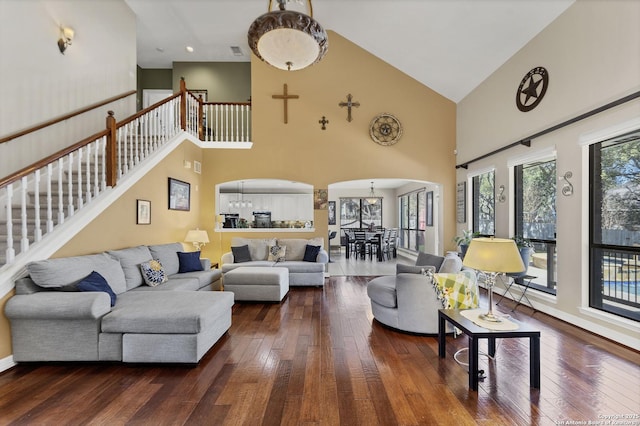
[[[424,251],[424,231],[427,221],[427,193],[424,189],[398,197],[400,210],[399,247]]]

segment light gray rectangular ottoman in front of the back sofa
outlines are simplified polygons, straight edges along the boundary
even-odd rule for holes
[[[222,277],[224,291],[236,301],[279,302],[289,291],[289,270],[273,266],[241,266]]]

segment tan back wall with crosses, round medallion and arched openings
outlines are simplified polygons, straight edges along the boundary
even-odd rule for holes
[[[277,70],[252,58],[254,145],[203,153],[201,217],[207,229],[214,227],[215,184],[239,179],[288,179],[316,189],[353,179],[425,180],[443,185],[445,211],[454,211],[455,104],[331,31],[329,43],[327,56],[301,71]],[[285,83],[290,94],[300,96],[289,101],[288,124],[283,102],[271,97],[282,94]],[[349,93],[361,104],[352,122],[338,106]],[[369,123],[383,112],[404,126],[393,146],[369,136]],[[322,116],[329,120],[326,130],[318,123]],[[316,235],[326,238],[327,211],[316,210],[314,223]],[[445,221],[445,240],[453,233],[453,220]],[[222,235],[223,250],[232,236]],[[216,246],[205,253],[217,258]]]

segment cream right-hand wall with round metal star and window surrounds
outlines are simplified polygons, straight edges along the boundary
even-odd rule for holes
[[[561,123],[640,90],[640,3],[577,1],[518,54],[458,104],[458,163]],[[545,98],[522,113],[515,94],[522,77],[535,66],[550,75]],[[508,164],[523,156],[555,149],[557,171],[573,173],[575,193],[557,198],[557,297],[533,292],[541,310],[591,331],[640,347],[638,324],[606,318],[588,309],[589,187],[586,148],[580,138],[640,117],[640,101],[618,106],[592,118],[534,139],[460,169],[457,180],[487,168],[496,170],[496,186],[505,185],[506,203],[496,204],[496,234],[513,234],[512,188]],[[466,224],[465,224],[466,226]],[[460,231],[463,226],[459,226]]]

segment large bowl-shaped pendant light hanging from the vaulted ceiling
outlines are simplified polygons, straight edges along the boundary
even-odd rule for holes
[[[307,0],[309,15],[286,10],[291,0],[276,0],[279,10],[259,16],[247,33],[249,47],[269,65],[285,71],[296,71],[320,61],[327,53],[329,41],[322,26],[313,19],[311,0]],[[298,0],[298,3],[302,3]]]

